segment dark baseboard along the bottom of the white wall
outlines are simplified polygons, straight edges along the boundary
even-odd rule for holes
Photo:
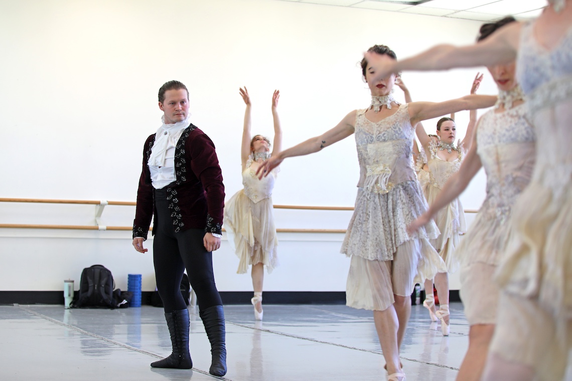
[[[143,304],[150,304],[153,291],[143,291]],[[252,291],[221,291],[223,304],[249,304]],[[459,290],[449,292],[451,302],[460,302]],[[423,299],[421,300],[423,302]],[[345,304],[344,291],[265,291],[268,304]],[[0,305],[62,304],[62,291],[0,291]]]

